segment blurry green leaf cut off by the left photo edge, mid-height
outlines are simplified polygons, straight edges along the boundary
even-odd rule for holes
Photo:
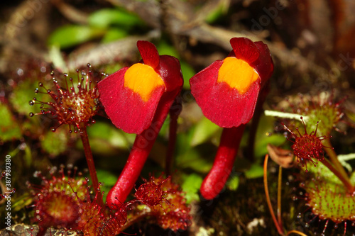
[[[0,140],[18,140],[22,137],[20,125],[13,118],[10,109],[4,103],[0,103]]]

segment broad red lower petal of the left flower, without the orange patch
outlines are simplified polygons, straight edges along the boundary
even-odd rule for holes
[[[126,133],[142,133],[151,125],[164,87],[160,86],[144,102],[139,94],[124,87],[124,74],[129,67],[124,67],[97,84],[100,100],[107,116],[117,128]]]

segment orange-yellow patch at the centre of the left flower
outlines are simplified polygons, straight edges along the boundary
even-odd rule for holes
[[[143,101],[151,98],[152,92],[159,86],[165,86],[163,79],[147,64],[136,63],[124,74],[124,86],[139,94]]]

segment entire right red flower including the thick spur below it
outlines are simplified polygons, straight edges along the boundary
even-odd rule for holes
[[[258,95],[273,73],[268,46],[248,38],[232,38],[233,50],[190,79],[191,92],[204,116],[224,128],[213,167],[201,193],[212,199],[222,191],[234,164],[245,124]]]

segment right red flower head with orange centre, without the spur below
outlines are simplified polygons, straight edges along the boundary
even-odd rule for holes
[[[268,46],[232,38],[229,57],[217,60],[190,79],[191,92],[204,116],[224,127],[251,120],[258,94],[273,73]]]

